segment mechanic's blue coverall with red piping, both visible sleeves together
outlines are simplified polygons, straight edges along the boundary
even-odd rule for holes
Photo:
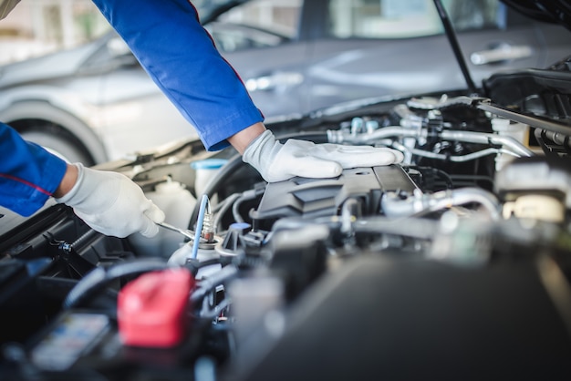
[[[209,150],[264,120],[240,77],[213,45],[188,0],[93,0]],[[66,164],[0,124],[0,205],[22,215],[41,208]]]

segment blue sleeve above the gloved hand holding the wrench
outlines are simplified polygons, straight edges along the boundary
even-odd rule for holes
[[[29,216],[57,190],[67,164],[4,123],[0,123],[0,152],[0,205]]]

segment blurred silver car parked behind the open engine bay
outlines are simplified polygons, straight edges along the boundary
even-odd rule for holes
[[[194,3],[270,121],[466,87],[431,0]],[[562,26],[497,0],[444,4],[477,85],[501,69],[546,67],[571,46]],[[88,165],[195,136],[114,32],[0,67],[0,120]]]

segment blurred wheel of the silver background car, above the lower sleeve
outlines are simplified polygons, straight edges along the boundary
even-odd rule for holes
[[[95,164],[78,140],[63,130],[26,130],[20,134],[24,139],[44,147],[67,162],[81,162],[88,167]]]

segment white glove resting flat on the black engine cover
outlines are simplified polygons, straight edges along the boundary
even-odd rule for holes
[[[269,129],[254,139],[242,156],[242,160],[258,170],[268,182],[283,181],[295,176],[332,178],[339,176],[344,169],[389,165],[403,159],[404,155],[396,149],[315,144],[296,139],[289,139],[282,144],[275,140]]]

